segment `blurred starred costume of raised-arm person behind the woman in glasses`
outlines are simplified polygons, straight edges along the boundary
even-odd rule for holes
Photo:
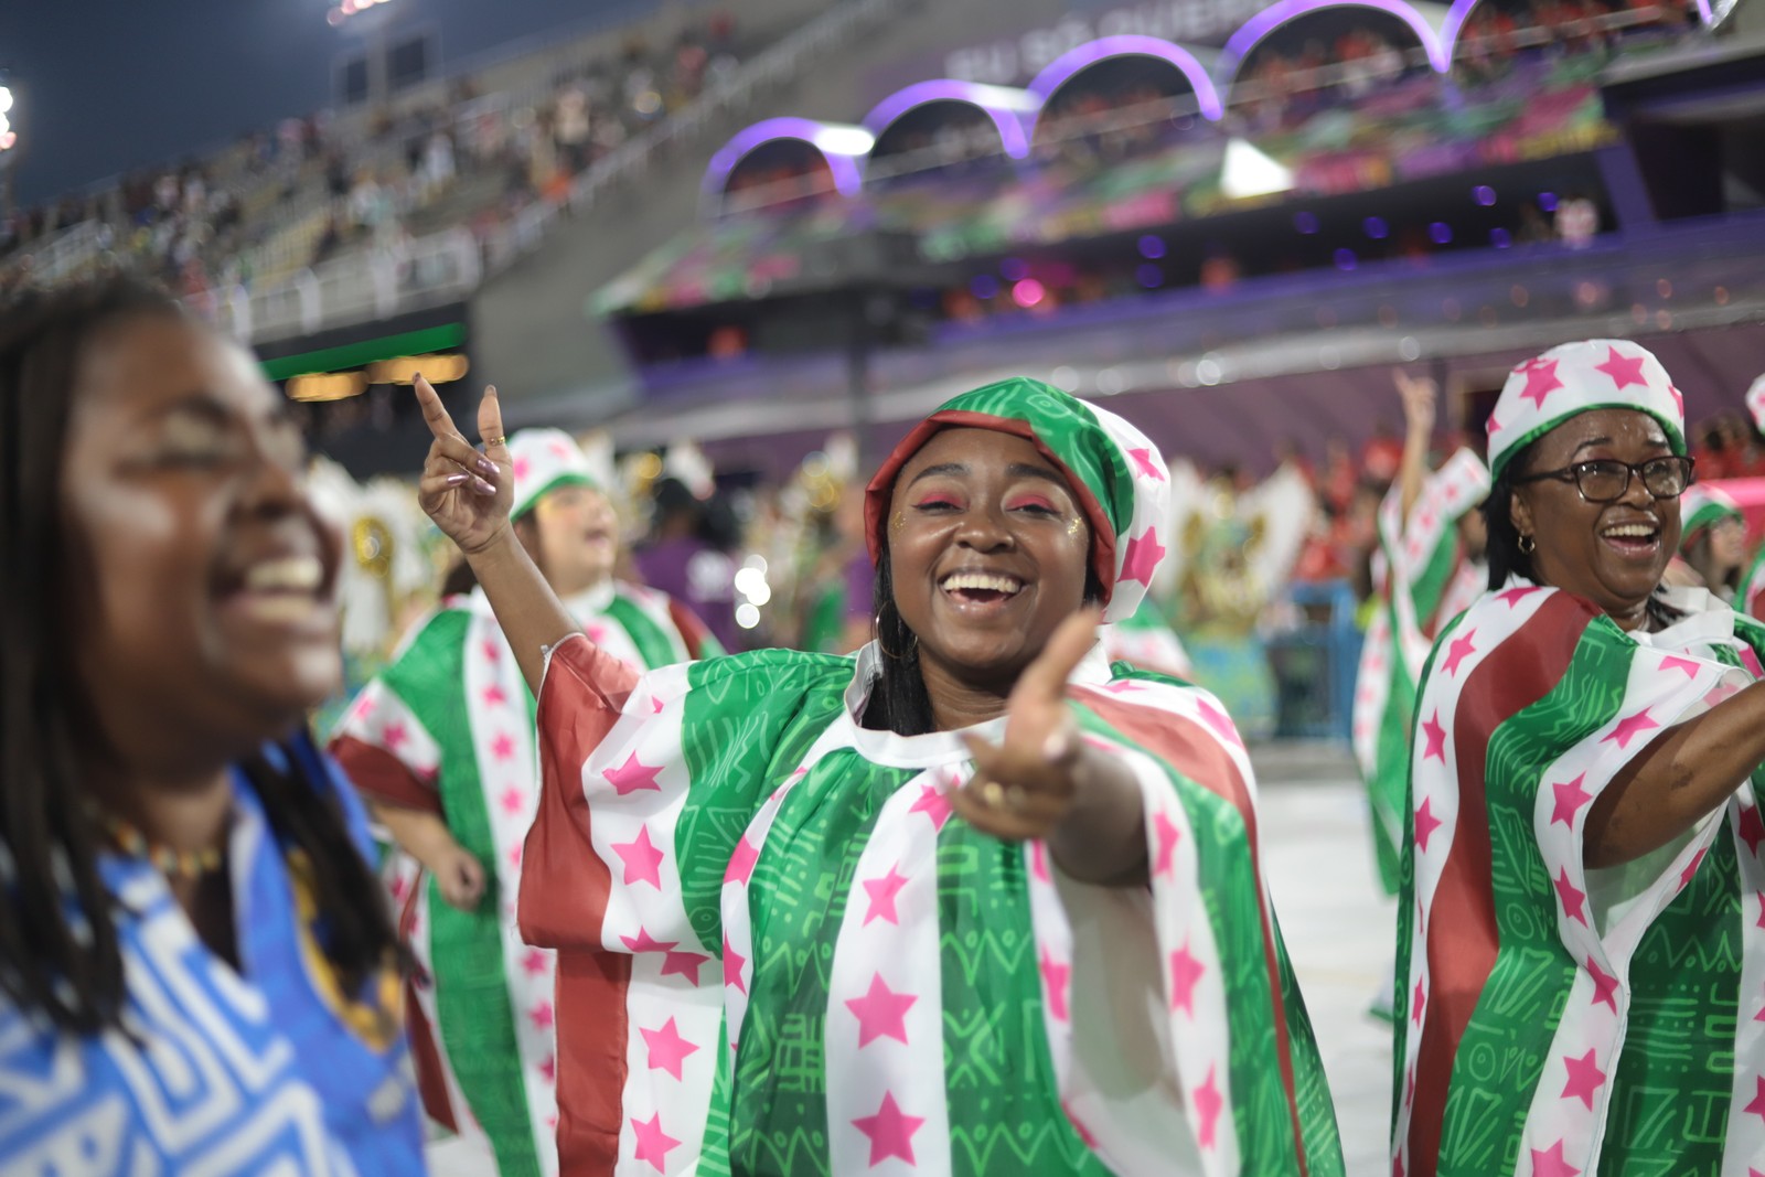
[[[1476,454],[1460,450],[1428,476],[1407,519],[1398,487],[1378,506],[1386,581],[1361,644],[1352,736],[1371,812],[1373,858],[1387,895],[1398,891],[1403,852],[1416,681],[1440,626],[1488,588],[1488,572],[1467,559],[1456,526],[1488,492],[1490,471]]]

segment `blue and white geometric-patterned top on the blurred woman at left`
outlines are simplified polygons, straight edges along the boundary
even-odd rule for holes
[[[365,852],[355,794],[311,745],[297,755]],[[240,969],[208,951],[159,872],[106,856],[101,873],[122,900],[127,1032],[76,1038],[0,997],[0,1173],[424,1172],[395,978],[371,983],[362,1002],[335,999],[300,918],[311,911],[291,881],[300,856],[281,852],[237,771],[233,792]]]

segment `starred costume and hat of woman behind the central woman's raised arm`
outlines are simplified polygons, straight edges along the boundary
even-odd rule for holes
[[[577,480],[565,466],[579,452],[552,434],[510,439],[517,461],[530,459],[515,478],[522,510]],[[653,589],[609,582],[565,603],[607,656],[632,667],[722,653],[692,612]],[[394,859],[399,926],[418,965],[408,1008],[425,1110],[455,1131],[482,1131],[503,1177],[556,1173],[554,962],[515,932],[521,843],[538,799],[533,695],[482,591],[415,626],[346,711],[332,753],[365,796],[439,813],[485,868],[484,898],[461,912],[415,859]]]

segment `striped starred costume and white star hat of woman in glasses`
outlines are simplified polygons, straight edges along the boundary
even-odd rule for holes
[[[1555,348],[1495,406],[1497,478],[1590,408],[1684,409],[1626,341]],[[1509,438],[1500,439],[1500,432]],[[1701,589],[1622,632],[1514,577],[1435,644],[1398,903],[1393,1173],[1749,1177],[1765,1163],[1758,776],[1686,836],[1583,866],[1590,808],[1673,723],[1765,678],[1765,628]]]

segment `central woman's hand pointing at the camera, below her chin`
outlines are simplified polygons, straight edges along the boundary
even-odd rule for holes
[[[1078,727],[1066,706],[1066,679],[1096,644],[1100,614],[1084,609],[1054,632],[1018,676],[1006,701],[1004,738],[965,736],[974,776],[951,796],[971,826],[1015,842],[1050,836],[1080,794]]]

